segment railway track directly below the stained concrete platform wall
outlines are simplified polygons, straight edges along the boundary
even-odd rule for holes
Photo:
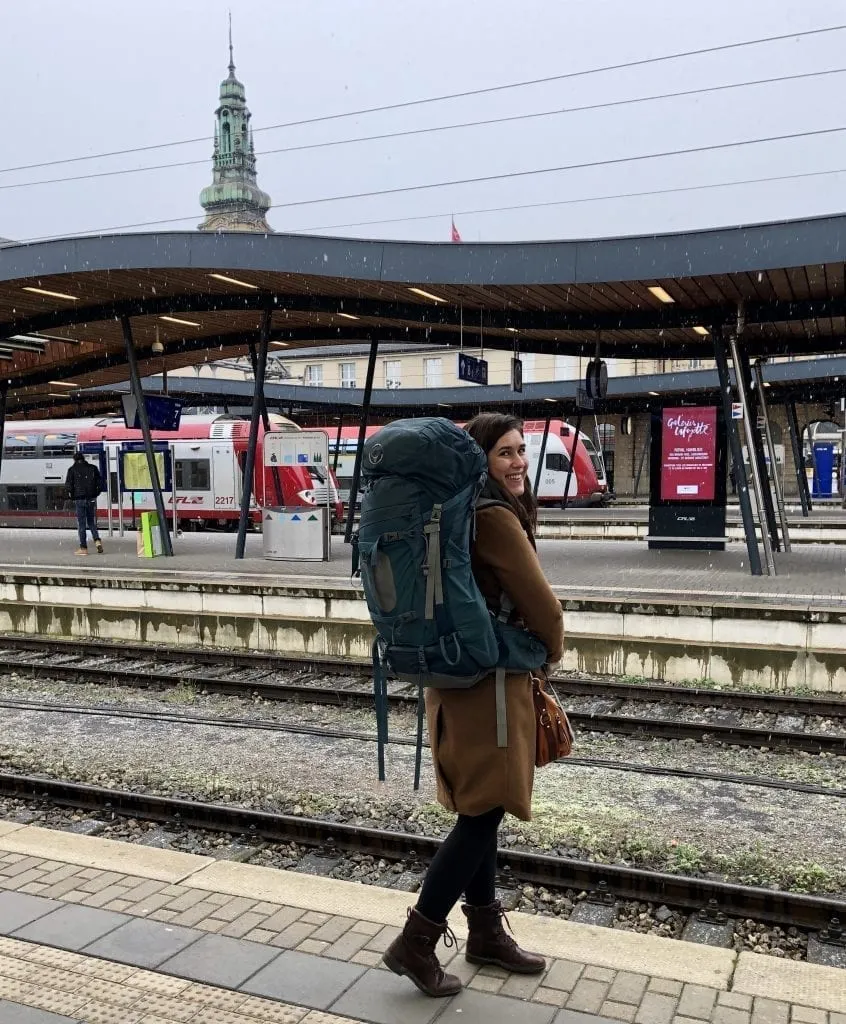
[[[100,682],[134,687],[173,687],[189,684],[210,693],[256,694],[266,700],[304,700],[310,703],[370,707],[372,694],[350,677],[369,674],[369,666],[341,658],[308,659],[265,652],[211,649],[151,648],[141,644],[54,640],[41,637],[0,638],[0,672],[48,675],[52,678]],[[289,676],[280,680],[281,673]],[[309,682],[315,676],[345,677],[337,685]],[[805,751],[846,756],[846,734],[806,729],[776,728],[771,724],[747,726],[715,721],[691,722],[678,718],[620,714],[626,703],[664,702],[680,708],[719,707],[729,712],[758,712],[801,719],[829,718],[846,722],[846,700],[784,694],[749,693],[624,683],[614,680],[561,677],[554,680],[559,694],[601,698],[610,709],[568,709],[577,728],[618,735],[644,735],[665,739],[715,741],[727,745]],[[394,707],[415,706],[414,687],[390,685],[388,701]]]

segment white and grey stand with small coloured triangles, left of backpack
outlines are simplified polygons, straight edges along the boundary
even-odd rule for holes
[[[271,430],[264,435],[263,462],[265,469],[296,467],[307,470],[312,478],[323,476],[326,493],[324,522],[321,522],[323,517],[308,506],[262,509],[264,557],[330,561],[332,476],[329,435],[324,430]]]

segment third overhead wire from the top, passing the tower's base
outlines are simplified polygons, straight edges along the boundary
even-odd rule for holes
[[[431,181],[423,184],[397,185],[392,188],[376,188],[368,191],[347,193],[345,195],[340,195],[340,196],[325,196],[318,199],[291,200],[286,203],[272,203],[268,207],[268,210],[296,209],[299,207],[306,207],[306,206],[320,206],[324,203],[340,203],[349,200],[373,199],[380,196],[407,195],[409,193],[427,191],[434,188],[448,188],[457,185],[480,184],[490,181],[515,180],[518,178],[526,178],[536,175],[557,174],[563,171],[586,170],[592,167],[611,167],[619,164],[642,163],[643,161],[647,160],[663,160],[669,157],[681,157],[681,156],[689,156],[692,154],[725,151],[730,148],[738,148],[741,146],[747,146],[747,145],[760,145],[767,142],[782,142],[797,138],[824,137],[843,131],[846,131],[846,126],[840,126],[837,128],[815,128],[802,132],[788,132],[784,135],[766,135],[760,138],[738,139],[733,142],[714,142],[706,145],[687,146],[679,150],[664,150],[658,153],[636,154],[634,156],[629,156],[629,157],[608,157],[604,160],[580,161],[579,163],[575,164],[561,164],[557,167],[540,167],[522,171],[506,171],[501,174],[484,174],[471,178],[455,178],[448,181]],[[161,224],[176,224],[189,220],[196,220],[197,216],[198,216],[197,214],[192,214],[191,216],[187,217],[165,217],[159,220],[137,221],[131,224],[114,224],[108,227],[96,227],[96,228],[88,228],[83,231],[73,231],[66,237],[72,238],[81,234],[82,236],[99,234],[108,231],[126,230],[129,228],[153,227],[153,226],[159,226]],[[55,238],[55,236],[48,234],[48,236],[39,236],[37,238],[23,239],[19,241],[23,243],[43,242],[47,239],[53,239],[53,238]]]

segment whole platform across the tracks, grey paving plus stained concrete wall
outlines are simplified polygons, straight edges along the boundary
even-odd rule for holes
[[[350,549],[268,561],[260,536],[178,538],[139,558],[135,536],[76,556],[72,531],[2,535],[0,633],[367,662],[373,629]],[[846,549],[804,545],[752,577],[746,550],[649,551],[637,542],[540,541],[561,600],[565,672],[773,690],[846,691]]]

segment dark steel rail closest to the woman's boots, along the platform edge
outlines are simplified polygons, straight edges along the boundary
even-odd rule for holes
[[[428,861],[440,844],[437,839],[420,835],[8,772],[0,773],[0,795],[184,828],[231,833],[251,840],[294,842],[387,859],[414,857]],[[606,900],[647,900],[685,910],[709,907],[729,918],[752,918],[787,927],[819,930],[834,919],[843,920],[846,915],[846,901],[835,897],[600,864],[513,848],[499,851],[499,866],[520,881],[599,892]]]

